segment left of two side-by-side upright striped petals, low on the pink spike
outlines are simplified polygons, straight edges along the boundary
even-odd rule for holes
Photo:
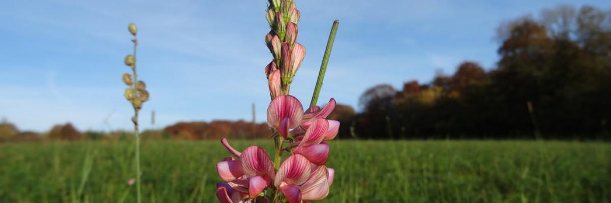
[[[269,159],[265,149],[258,146],[249,146],[240,156],[242,170],[248,176],[274,177],[274,165]]]

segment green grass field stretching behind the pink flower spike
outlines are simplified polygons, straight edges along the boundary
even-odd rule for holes
[[[238,149],[271,141],[230,141]],[[133,144],[0,144],[0,202],[134,202]],[[218,141],[144,141],[144,202],[217,202]],[[331,141],[322,202],[610,202],[609,143]]]

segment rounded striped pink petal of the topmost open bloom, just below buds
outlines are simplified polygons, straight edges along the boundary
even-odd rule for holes
[[[287,126],[293,129],[301,124],[303,106],[294,96],[280,95],[269,103],[267,117],[268,125],[273,129],[280,127],[280,121],[288,118]]]

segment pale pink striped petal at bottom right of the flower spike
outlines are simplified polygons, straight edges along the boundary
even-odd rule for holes
[[[318,166],[310,178],[301,185],[301,198],[304,201],[321,200],[329,194],[329,171],[326,166]]]

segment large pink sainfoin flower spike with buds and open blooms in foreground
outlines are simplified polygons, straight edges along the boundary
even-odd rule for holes
[[[299,99],[289,94],[305,57],[304,46],[297,42],[301,14],[292,0],[268,2],[266,18],[271,30],[265,35],[265,44],[273,60],[265,66],[265,76],[271,97],[267,123],[276,143],[274,161],[259,146],[238,151],[222,138],[231,154],[216,164],[223,180],[217,184],[216,196],[222,203],[318,201],[329,194],[334,179],[335,171],[325,164],[330,149],[326,141],[333,140],[340,127],[338,121],[327,119],[335,109],[335,99],[324,107],[315,105],[323,75],[309,109],[304,111]],[[284,153],[290,155],[282,162]]]

